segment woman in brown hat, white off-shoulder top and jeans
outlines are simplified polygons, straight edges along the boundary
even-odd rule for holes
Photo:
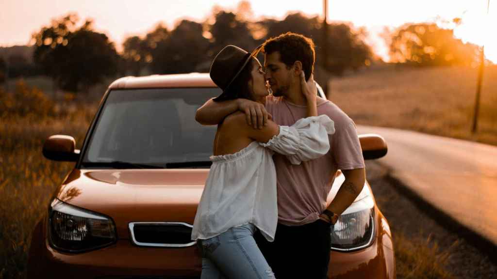
[[[202,279],[274,278],[253,239],[255,230],[260,230],[268,241],[274,240],[278,214],[273,151],[299,164],[330,148],[333,122],[328,116],[317,116],[314,80],[306,83],[301,66],[293,67],[300,74],[308,118],[291,127],[268,121],[256,130],[237,112],[218,125],[213,163],[192,230],[202,252]],[[262,67],[241,48],[230,45],[221,50],[210,76],[223,89],[214,101],[246,98],[265,103],[268,88]]]

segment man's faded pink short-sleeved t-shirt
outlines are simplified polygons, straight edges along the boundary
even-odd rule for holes
[[[268,96],[266,110],[278,125],[291,126],[307,117],[307,108]],[[330,151],[315,160],[292,165],[284,155],[274,154],[277,177],[278,223],[303,225],[316,221],[326,209],[326,199],[338,169],[364,168],[355,124],[330,101],[318,101],[318,115],[333,120],[335,133],[329,136]]]

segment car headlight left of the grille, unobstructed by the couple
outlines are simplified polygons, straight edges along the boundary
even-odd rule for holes
[[[54,248],[84,252],[110,245],[116,240],[112,219],[70,206],[55,199],[49,209],[49,239]]]

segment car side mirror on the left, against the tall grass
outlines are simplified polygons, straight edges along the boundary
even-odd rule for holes
[[[80,150],[76,148],[76,140],[71,136],[50,136],[43,143],[43,156],[54,161],[76,162],[80,158]]]

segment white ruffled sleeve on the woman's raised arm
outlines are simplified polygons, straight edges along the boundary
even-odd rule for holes
[[[328,135],[335,132],[327,115],[299,119],[294,125],[280,126],[279,134],[259,144],[276,153],[286,155],[294,165],[325,155],[330,150]]]

